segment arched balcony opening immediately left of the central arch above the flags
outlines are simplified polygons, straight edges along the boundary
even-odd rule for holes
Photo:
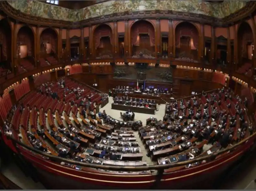
[[[108,25],[100,25],[95,28],[94,33],[94,48],[97,58],[113,57],[113,33]]]

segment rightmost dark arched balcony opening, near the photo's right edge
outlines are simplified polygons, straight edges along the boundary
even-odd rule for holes
[[[252,28],[247,22],[241,23],[237,31],[238,66],[246,65],[246,70],[252,66],[254,51]]]

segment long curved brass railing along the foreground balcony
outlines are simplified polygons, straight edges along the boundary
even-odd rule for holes
[[[69,159],[66,159],[66,158],[57,157],[57,156],[53,156],[53,155],[44,153],[40,150],[29,147],[28,145],[14,139],[12,136],[9,136],[9,135],[5,135],[5,136],[7,136],[8,139],[11,139],[14,142],[14,144],[18,144],[23,148],[26,148],[30,151],[33,151],[33,152],[37,153],[37,154],[43,155],[44,157],[48,157],[49,159],[54,160],[54,161],[65,162],[65,163],[69,163],[69,164],[75,164],[75,165],[79,165],[79,166],[97,168],[97,169],[103,169],[103,170],[138,172],[138,171],[148,171],[148,170],[164,170],[164,169],[168,169],[168,168],[172,168],[172,167],[184,166],[184,165],[187,165],[187,164],[193,164],[193,163],[196,163],[196,162],[201,162],[203,160],[208,160],[208,159],[209,160],[214,160],[217,156],[219,156],[223,153],[226,153],[228,151],[232,152],[235,148],[241,146],[243,143],[245,143],[246,141],[248,141],[249,139],[251,139],[255,135],[256,135],[256,132],[254,132],[249,137],[243,139],[242,141],[236,143],[235,145],[229,146],[228,148],[220,150],[216,153],[212,153],[211,155],[207,155],[207,156],[204,156],[204,157],[198,157],[198,158],[188,160],[188,161],[184,161],[184,162],[177,162],[177,163],[172,163],[172,164],[161,164],[161,165],[149,165],[149,166],[112,166],[112,165],[99,165],[99,164],[90,164],[90,163],[78,162],[78,161],[69,160]]]

